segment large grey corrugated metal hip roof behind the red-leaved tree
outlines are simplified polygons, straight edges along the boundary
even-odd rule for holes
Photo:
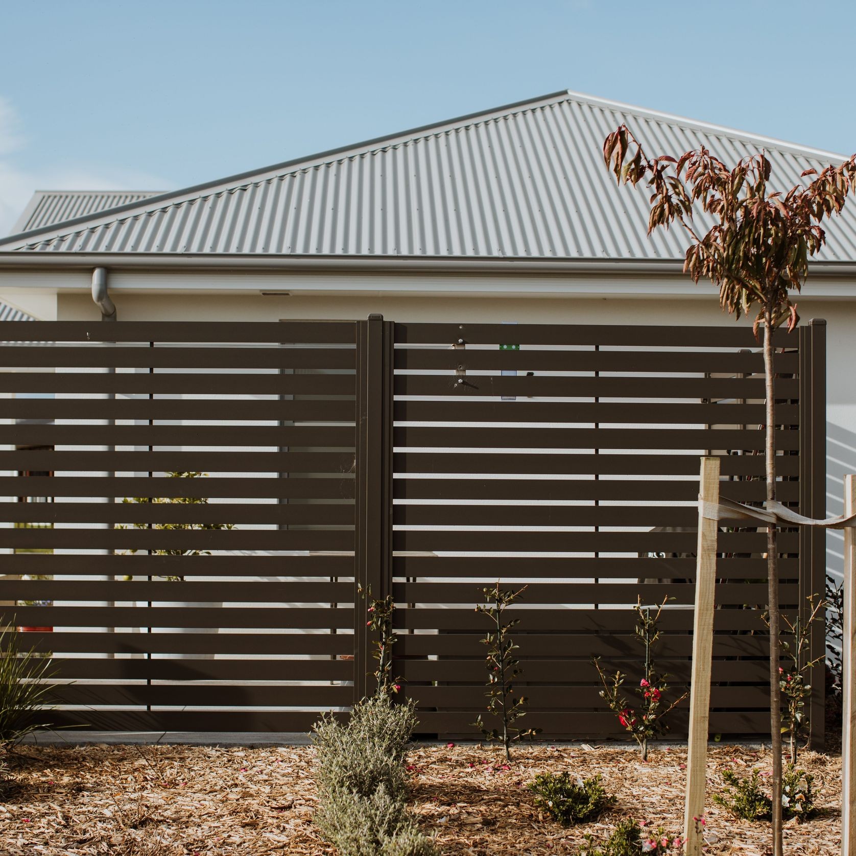
[[[647,230],[647,195],[615,186],[603,138],[626,122],[651,152],[764,148],[785,189],[830,152],[560,92],[165,194],[0,241],[48,253],[253,253],[682,259],[680,229]],[[856,206],[819,258],[856,260]]]

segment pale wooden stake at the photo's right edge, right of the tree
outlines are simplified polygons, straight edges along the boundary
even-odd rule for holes
[[[856,514],[856,476],[844,477],[844,514]],[[856,532],[844,530],[844,638],[841,639],[841,853],[856,856]]]

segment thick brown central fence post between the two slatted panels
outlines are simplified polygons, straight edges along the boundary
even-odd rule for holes
[[[366,627],[360,589],[377,599],[392,591],[392,328],[383,315],[357,324],[354,701],[376,688],[376,633]]]

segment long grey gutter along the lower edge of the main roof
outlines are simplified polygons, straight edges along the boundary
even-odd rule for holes
[[[681,275],[682,259],[468,259],[401,256],[297,256],[191,253],[0,252],[0,270],[255,270],[270,273],[407,273],[473,276]],[[856,262],[814,262],[812,277],[856,276]],[[106,277],[106,271],[104,273]],[[106,283],[106,278],[104,279]],[[93,282],[94,288],[94,282]],[[106,288],[106,285],[104,285]],[[99,292],[100,294],[100,292]],[[104,291],[106,296],[106,291]],[[93,291],[94,299],[94,291]],[[109,298],[107,298],[109,300]],[[98,302],[98,301],[96,301]],[[112,303],[112,301],[110,301]],[[115,308],[115,307],[114,307]]]

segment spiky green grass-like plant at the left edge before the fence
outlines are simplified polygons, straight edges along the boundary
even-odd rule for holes
[[[45,709],[53,689],[51,660],[21,651],[15,627],[0,630],[0,749],[15,746],[32,731],[33,714]]]

